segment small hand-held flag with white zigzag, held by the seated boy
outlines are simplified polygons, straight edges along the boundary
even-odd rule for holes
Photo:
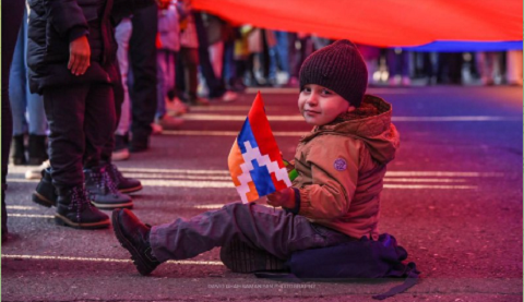
[[[260,92],[227,159],[233,182],[243,203],[291,186],[281,150],[265,117]]]

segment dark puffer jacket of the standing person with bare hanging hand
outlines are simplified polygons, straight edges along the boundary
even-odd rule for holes
[[[86,82],[117,83],[115,25],[135,10],[153,5],[153,0],[28,0],[27,35],[29,88]],[[87,36],[91,65],[75,76],[68,69],[70,41]]]

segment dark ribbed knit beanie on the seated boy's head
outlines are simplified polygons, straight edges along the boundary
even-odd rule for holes
[[[368,86],[368,70],[357,47],[337,40],[311,53],[300,68],[300,90],[307,84],[324,86],[359,107]]]

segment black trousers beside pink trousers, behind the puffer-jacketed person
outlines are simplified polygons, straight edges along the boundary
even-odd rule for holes
[[[133,142],[147,144],[151,123],[156,113],[156,33],[157,7],[148,7],[133,15],[133,33],[129,40],[129,94],[132,105]]]

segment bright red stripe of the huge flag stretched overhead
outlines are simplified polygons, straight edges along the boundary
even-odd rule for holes
[[[522,0],[193,0],[237,24],[380,47],[523,38]]]

